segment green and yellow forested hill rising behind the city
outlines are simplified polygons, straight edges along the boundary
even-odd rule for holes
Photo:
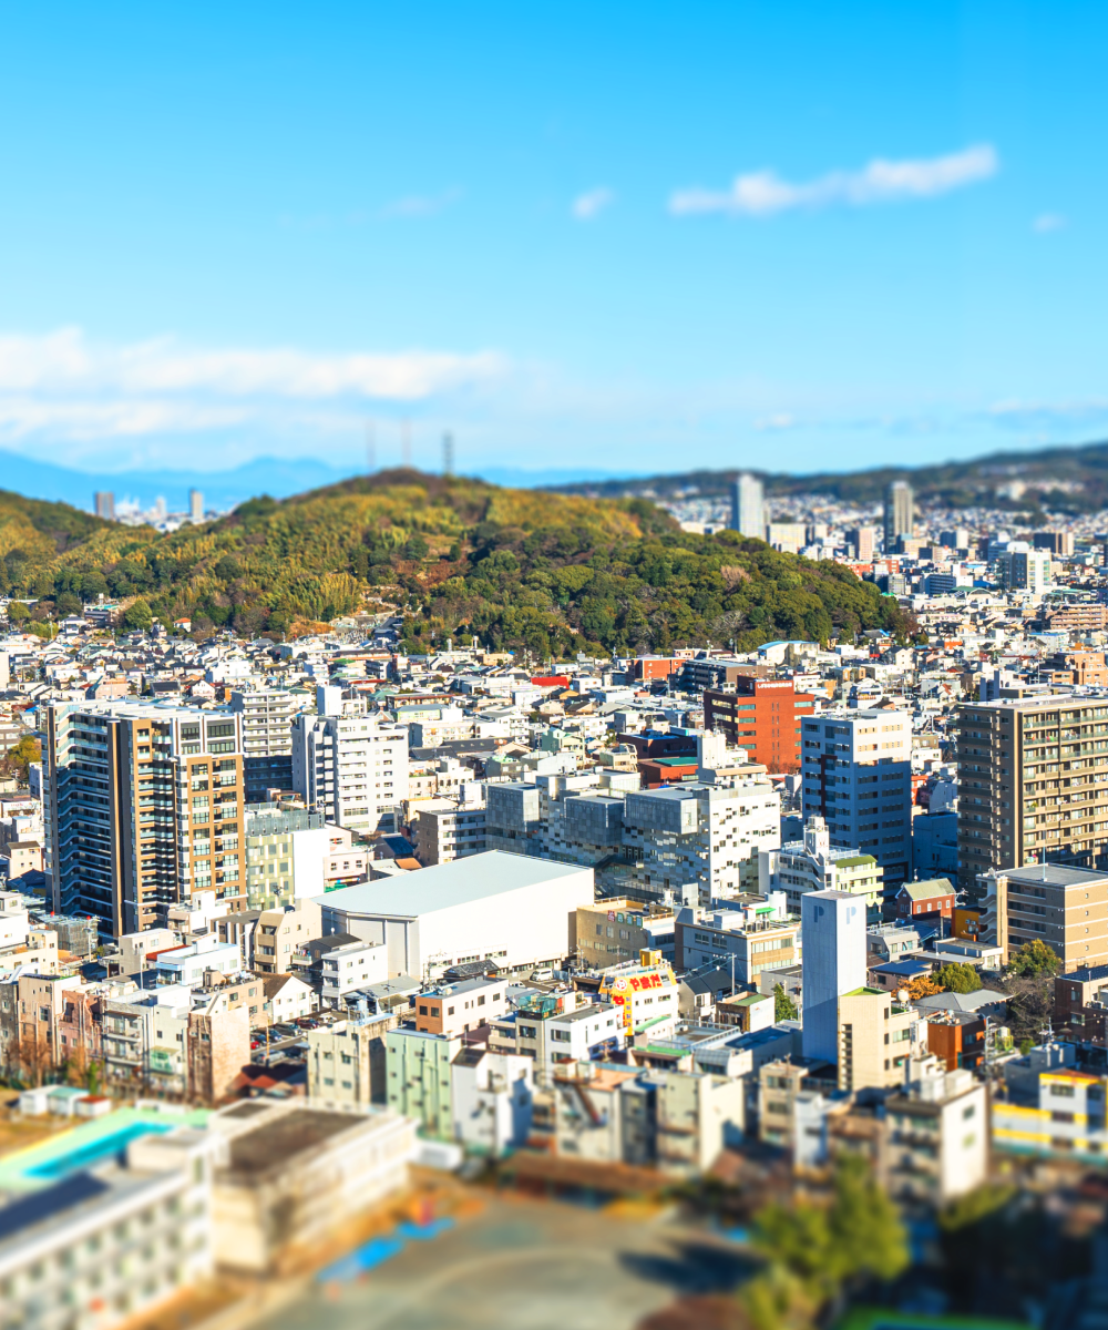
[[[188,617],[193,634],[286,633],[380,597],[404,610],[412,650],[476,636],[539,657],[912,628],[846,568],[688,535],[644,499],[415,471],[251,499],[173,535],[0,492],[0,591],[37,597],[32,622],[102,592],[126,604],[126,626]]]

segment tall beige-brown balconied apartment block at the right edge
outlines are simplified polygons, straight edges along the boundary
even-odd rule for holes
[[[1108,702],[1049,693],[958,709],[958,884],[1018,864],[1108,868]]]

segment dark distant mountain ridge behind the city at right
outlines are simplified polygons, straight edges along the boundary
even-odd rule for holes
[[[746,468],[744,468],[746,469]],[[1097,512],[1108,508],[1108,443],[1041,448],[1035,452],[995,452],[974,462],[932,467],[875,467],[867,471],[782,475],[754,472],[766,493],[823,493],[855,503],[881,499],[890,480],[908,480],[916,497],[950,508],[975,504],[1039,515]],[[637,480],[581,480],[547,488],[593,499],[676,499],[694,492],[722,496],[738,471],[682,471]]]

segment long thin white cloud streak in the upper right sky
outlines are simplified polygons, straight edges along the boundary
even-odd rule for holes
[[[944,157],[906,161],[874,158],[855,172],[830,172],[818,180],[793,184],[775,172],[738,176],[728,190],[684,189],[670,196],[669,210],[677,217],[728,213],[767,217],[794,207],[829,207],[843,203],[862,207],[906,198],[934,198],[988,180],[1000,168],[988,144],[966,148]]]

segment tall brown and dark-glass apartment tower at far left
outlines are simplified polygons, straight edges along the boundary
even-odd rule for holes
[[[165,924],[200,890],[242,908],[238,717],[52,702],[44,722],[45,866],[59,914],[92,915],[118,938]]]

